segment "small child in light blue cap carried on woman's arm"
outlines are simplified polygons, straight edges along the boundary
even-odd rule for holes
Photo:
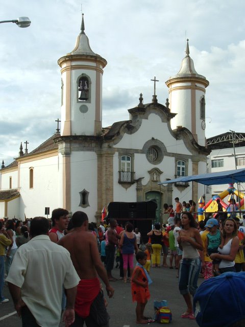
[[[207,233],[207,253],[210,256],[212,253],[218,253],[218,247],[220,249],[223,248],[224,240],[222,237],[222,233],[220,233],[218,229],[218,221],[215,218],[210,218],[206,225],[204,226],[208,228],[209,233]],[[213,260],[213,274],[219,274],[218,264],[220,261]]]

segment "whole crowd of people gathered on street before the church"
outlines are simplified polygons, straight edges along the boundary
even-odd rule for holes
[[[110,219],[109,225],[101,221],[97,226],[85,213],[70,218],[62,208],[52,212],[51,220],[0,220],[0,303],[9,301],[3,294],[6,282],[23,326],[58,326],[63,313],[66,326],[106,327],[109,315],[101,281],[112,297],[110,283],[121,280],[131,285],[136,322],[146,324],[154,322],[144,316],[151,269],[163,267],[176,269],[186,303],[181,317],[195,319],[192,298],[199,277],[245,271],[245,224],[219,213],[198,222],[193,201],[192,213],[187,203],[175,201],[175,209],[165,205],[167,224],[155,223],[145,235],[147,242],[129,221],[122,226]]]

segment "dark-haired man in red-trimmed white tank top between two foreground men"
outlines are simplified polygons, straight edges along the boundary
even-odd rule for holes
[[[52,229],[48,233],[50,240],[57,243],[63,236],[69,223],[69,213],[66,209],[58,208],[52,212]]]

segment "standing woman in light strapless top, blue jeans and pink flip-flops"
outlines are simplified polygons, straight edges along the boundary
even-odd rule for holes
[[[187,310],[181,317],[195,319],[190,295],[194,296],[198,289],[198,277],[202,265],[198,250],[203,250],[203,242],[191,213],[182,214],[181,224],[182,229],[177,237],[179,247],[183,250],[179,271],[179,290],[187,305]]]

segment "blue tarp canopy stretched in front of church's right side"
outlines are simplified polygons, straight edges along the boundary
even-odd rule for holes
[[[168,184],[176,182],[197,182],[204,185],[219,185],[219,184],[230,184],[237,182],[245,182],[245,168],[227,170],[224,172],[201,174],[193,176],[182,176],[179,178],[166,180],[158,184]]]

